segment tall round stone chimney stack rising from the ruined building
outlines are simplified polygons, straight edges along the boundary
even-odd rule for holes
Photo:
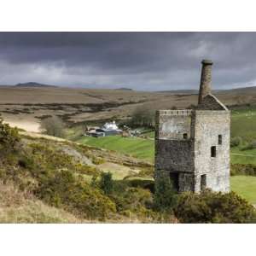
[[[211,93],[212,86],[212,64],[210,60],[201,61],[201,83],[198,96],[198,104],[201,103],[202,99]]]

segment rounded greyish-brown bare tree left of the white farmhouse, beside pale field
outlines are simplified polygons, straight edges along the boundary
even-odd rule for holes
[[[63,121],[57,116],[49,117],[41,121],[41,130],[50,136],[64,137],[64,128],[65,125]]]

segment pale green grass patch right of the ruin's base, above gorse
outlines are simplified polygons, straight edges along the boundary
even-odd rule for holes
[[[230,178],[231,189],[241,195],[252,204],[256,204],[256,177],[232,176]]]

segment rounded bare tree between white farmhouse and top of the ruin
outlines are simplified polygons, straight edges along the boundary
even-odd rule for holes
[[[154,126],[154,108],[143,105],[135,109],[131,115],[131,125],[133,126]]]

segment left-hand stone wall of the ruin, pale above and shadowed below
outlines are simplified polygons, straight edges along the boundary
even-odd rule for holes
[[[160,110],[156,113],[155,177],[164,174],[166,178],[171,178],[178,184],[180,192],[193,190],[195,184],[192,112],[188,109]],[[176,181],[173,181],[174,178]]]

